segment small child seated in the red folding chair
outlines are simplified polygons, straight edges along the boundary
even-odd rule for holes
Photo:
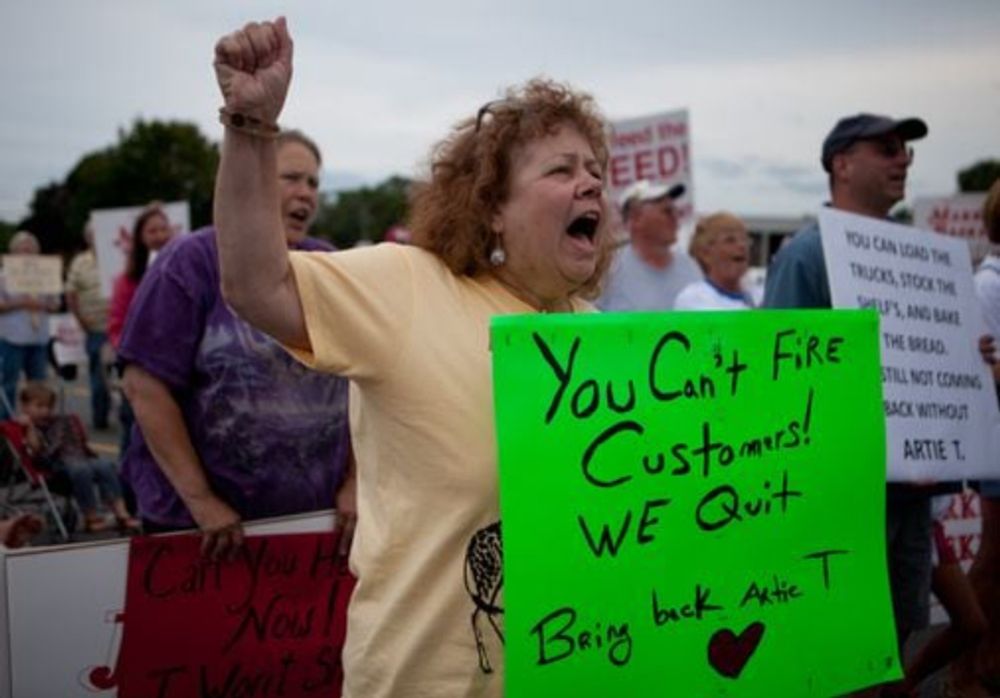
[[[96,484],[101,499],[115,515],[119,530],[138,532],[139,522],[128,513],[114,464],[90,448],[80,418],[75,414],[53,414],[56,394],[44,383],[25,384],[18,398],[20,413],[15,420],[25,429],[28,454],[40,466],[69,476],[73,499],[83,512],[84,530],[94,533],[111,525],[97,511]]]

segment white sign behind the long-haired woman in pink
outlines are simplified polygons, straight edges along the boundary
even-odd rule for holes
[[[94,228],[94,254],[101,278],[101,295],[111,297],[115,279],[125,271],[128,253],[132,249],[132,226],[145,206],[106,208],[91,211],[90,223]],[[186,201],[162,204],[174,235],[191,230],[191,214]]]

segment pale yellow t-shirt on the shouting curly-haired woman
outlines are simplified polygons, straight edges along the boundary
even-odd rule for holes
[[[291,259],[312,345],[298,356],[351,379],[358,585],[344,696],[499,698],[489,323],[534,311],[491,277],[455,276],[415,247]]]

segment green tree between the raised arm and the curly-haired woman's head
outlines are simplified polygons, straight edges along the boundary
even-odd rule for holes
[[[315,231],[340,248],[360,240],[378,242],[385,232],[406,220],[410,180],[390,177],[374,187],[338,192],[321,202]]]

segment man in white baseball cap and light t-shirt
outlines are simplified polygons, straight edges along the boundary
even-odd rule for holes
[[[605,311],[671,310],[674,299],[701,271],[677,242],[674,202],[684,195],[683,184],[640,179],[619,199],[629,240],[612,263],[597,306]]]

